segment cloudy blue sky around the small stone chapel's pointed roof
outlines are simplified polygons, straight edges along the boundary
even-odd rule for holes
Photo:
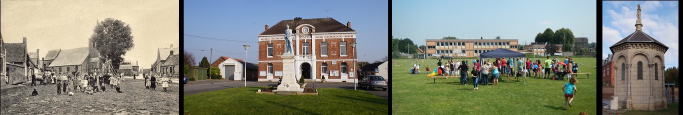
[[[643,32],[667,45],[667,68],[678,66],[678,1],[602,1],[602,58],[609,47],[632,34],[641,5]]]

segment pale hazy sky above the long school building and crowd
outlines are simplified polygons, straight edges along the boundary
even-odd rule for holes
[[[533,42],[546,28],[597,38],[595,1],[391,1],[391,34],[423,45],[425,39],[519,39]]]

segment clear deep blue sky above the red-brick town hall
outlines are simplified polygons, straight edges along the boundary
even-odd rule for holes
[[[294,17],[325,18],[325,10],[331,10],[329,17],[343,24],[350,21],[351,28],[358,31],[359,61],[374,62],[389,54],[389,1],[184,1],[183,6],[184,34],[249,41],[184,37],[184,50],[195,55],[197,64],[201,57],[210,57],[211,48],[213,60],[221,55],[244,59],[243,44],[251,45],[247,62],[257,63],[257,36],[264,25]]]

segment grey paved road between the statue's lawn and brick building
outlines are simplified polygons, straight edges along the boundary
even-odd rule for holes
[[[316,88],[346,88],[353,89],[353,83],[320,83],[316,82]],[[236,88],[245,86],[245,81],[230,81],[230,80],[201,80],[201,81],[191,81],[188,84],[183,85],[183,94],[196,94],[199,92],[209,92],[214,90],[223,90],[226,88]],[[277,82],[256,82],[247,81],[247,86],[274,86],[277,87]],[[307,84],[307,87],[313,86],[313,84]],[[357,88],[358,90],[365,90]],[[378,97],[385,99],[389,98],[389,90],[382,91],[381,88],[365,90],[370,94],[375,94]]]

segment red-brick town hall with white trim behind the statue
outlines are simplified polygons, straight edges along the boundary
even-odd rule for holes
[[[357,67],[353,64],[354,51],[351,43],[356,41],[357,31],[333,18],[295,18],[283,20],[258,35],[258,81],[277,81],[282,75],[282,59],[285,47],[284,31],[292,29],[292,53],[295,57],[296,78],[326,81],[352,82]]]

